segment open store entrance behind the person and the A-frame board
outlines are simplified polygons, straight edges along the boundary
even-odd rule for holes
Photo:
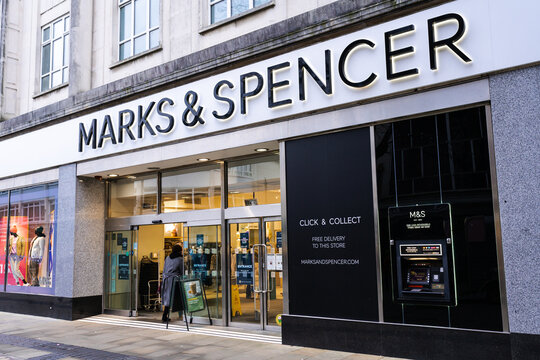
[[[184,275],[203,279],[210,315],[222,317],[221,226],[186,223],[141,225],[132,231],[106,234],[106,313],[161,320],[165,258],[176,244],[182,246]],[[194,317],[204,314],[193,313]]]

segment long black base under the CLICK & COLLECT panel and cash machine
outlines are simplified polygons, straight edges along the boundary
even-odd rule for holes
[[[540,336],[518,335],[294,315],[282,325],[286,345],[415,360],[536,359]]]

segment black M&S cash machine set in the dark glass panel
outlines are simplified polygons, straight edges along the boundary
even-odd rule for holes
[[[450,204],[388,209],[394,301],[456,306]]]

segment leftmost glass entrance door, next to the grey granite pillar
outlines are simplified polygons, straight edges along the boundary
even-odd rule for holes
[[[137,314],[137,230],[105,234],[106,312],[124,316]]]

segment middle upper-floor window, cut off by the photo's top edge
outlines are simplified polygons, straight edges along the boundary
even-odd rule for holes
[[[119,60],[159,46],[159,0],[118,0]]]

